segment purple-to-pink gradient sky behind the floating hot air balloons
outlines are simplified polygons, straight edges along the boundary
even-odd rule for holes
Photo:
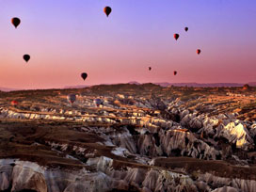
[[[255,0],[0,0],[0,88],[255,82],[255,18]]]

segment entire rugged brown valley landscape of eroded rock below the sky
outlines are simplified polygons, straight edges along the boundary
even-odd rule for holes
[[[203,89],[103,88],[79,90],[74,104],[77,90],[11,93],[24,99],[16,107],[0,97],[0,191],[255,191],[249,104],[245,115]]]

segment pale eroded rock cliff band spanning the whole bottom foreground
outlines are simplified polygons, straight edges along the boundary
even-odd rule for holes
[[[23,191],[255,191],[255,181],[217,177],[212,173],[189,175],[161,168],[115,168],[107,157],[88,159],[94,172],[56,170],[32,162],[1,160],[1,190]],[[227,186],[228,185],[228,186]]]

